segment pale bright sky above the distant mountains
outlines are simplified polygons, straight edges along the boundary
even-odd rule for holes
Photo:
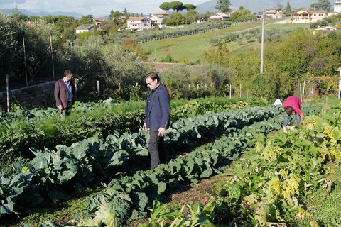
[[[174,0],[166,0],[174,1]],[[177,0],[181,1],[181,0]],[[183,4],[202,4],[209,0],[183,0]],[[127,11],[133,13],[158,13],[162,10],[158,7],[163,0],[0,0],[0,9],[26,9],[34,13],[40,11],[75,12],[82,15],[107,16],[110,11]]]

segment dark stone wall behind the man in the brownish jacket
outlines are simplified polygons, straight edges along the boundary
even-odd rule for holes
[[[10,88],[9,106],[11,106],[11,104],[16,104],[24,109],[55,106],[55,98],[53,96],[54,86],[55,81],[51,81],[43,84],[23,87],[20,89],[11,90]],[[0,109],[1,111],[7,110],[6,91],[0,92]]]

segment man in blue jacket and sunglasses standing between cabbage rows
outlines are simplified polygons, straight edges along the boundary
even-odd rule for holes
[[[168,155],[164,145],[166,129],[169,127],[171,106],[169,93],[166,87],[160,83],[160,77],[156,72],[150,72],[144,77],[150,91],[146,100],[144,118],[144,131],[149,128],[148,151],[151,155],[151,169],[160,163],[166,162]]]

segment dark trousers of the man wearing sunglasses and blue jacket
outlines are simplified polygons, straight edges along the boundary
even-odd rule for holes
[[[153,170],[160,163],[165,163],[168,159],[164,137],[158,136],[158,132],[149,132],[150,138],[148,143],[148,151],[151,154],[151,169]]]

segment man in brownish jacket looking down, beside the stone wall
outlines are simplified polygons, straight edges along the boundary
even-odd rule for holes
[[[70,70],[65,70],[64,77],[55,82],[55,106],[58,107],[62,120],[72,108],[72,96],[75,94],[72,77],[73,73]]]

